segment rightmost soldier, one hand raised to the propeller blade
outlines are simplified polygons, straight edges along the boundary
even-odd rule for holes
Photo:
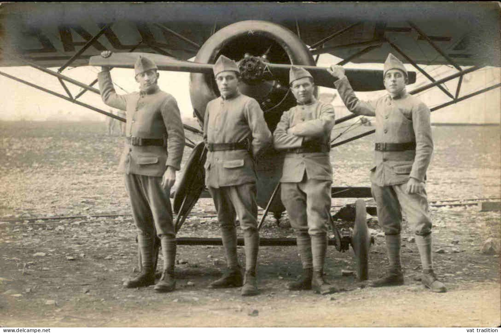
[[[435,292],[445,292],[432,268],[431,220],[425,190],[426,170],[433,152],[430,110],[405,90],[407,70],[400,60],[388,55],[384,64],[384,86],[388,94],[373,101],[360,101],[341,66],[327,70],[344,104],[357,115],[376,117],[376,144],[371,169],[372,195],[378,221],[385,233],[389,269],[374,287],[404,283],[400,263],[402,212],[416,233],[421,256],[423,284]]]

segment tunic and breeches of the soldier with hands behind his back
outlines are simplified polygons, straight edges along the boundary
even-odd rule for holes
[[[233,224],[235,213],[240,227],[256,229],[255,158],[272,142],[258,102],[237,93],[218,97],[207,104],[203,139],[208,143],[237,143],[252,139],[247,150],[209,151],[205,162],[205,185],[209,189],[221,225]]]

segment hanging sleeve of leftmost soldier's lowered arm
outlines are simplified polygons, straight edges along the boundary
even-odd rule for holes
[[[181,159],[184,152],[184,130],[181,114],[174,97],[169,96],[162,104],[162,118],[167,129],[167,166],[175,170],[181,168]]]

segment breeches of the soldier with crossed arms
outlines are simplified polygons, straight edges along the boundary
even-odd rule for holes
[[[308,230],[310,235],[327,233],[331,184],[330,180],[307,179],[306,176],[300,183],[281,183],[282,202],[295,230]]]

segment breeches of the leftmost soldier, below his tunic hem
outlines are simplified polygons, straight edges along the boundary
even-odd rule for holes
[[[162,177],[126,174],[125,187],[138,232],[143,235],[175,237],[170,190],[162,188]]]

